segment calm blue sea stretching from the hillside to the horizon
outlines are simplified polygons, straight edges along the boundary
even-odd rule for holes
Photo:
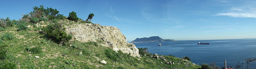
[[[210,43],[209,45],[198,45],[197,43]],[[162,46],[158,46],[161,43]],[[189,41],[164,41],[133,43],[138,48],[147,47],[149,53],[160,55],[173,55],[182,58],[188,56],[195,64],[210,64],[215,62],[220,68],[240,65],[243,69],[243,58],[256,58],[256,38],[254,39],[228,39],[228,40],[189,40]],[[200,60],[201,59],[201,60]],[[247,62],[245,62],[247,63]],[[256,60],[249,62],[249,67],[256,69]],[[245,64],[247,68],[247,64]]]

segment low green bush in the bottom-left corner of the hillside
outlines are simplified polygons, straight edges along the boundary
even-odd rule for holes
[[[3,60],[0,62],[0,69],[18,69],[17,65],[9,60]]]

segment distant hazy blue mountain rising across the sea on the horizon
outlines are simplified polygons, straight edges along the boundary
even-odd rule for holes
[[[134,41],[132,41],[131,43],[142,43],[142,42],[159,42],[159,41],[174,41],[171,39],[162,39],[159,36],[152,36],[149,38],[136,38]]]

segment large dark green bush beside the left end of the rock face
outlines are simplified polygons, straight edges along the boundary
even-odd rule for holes
[[[42,28],[42,33],[46,37],[51,38],[53,41],[58,43],[65,43],[72,39],[71,34],[65,32],[65,28],[62,28],[60,23],[49,24],[46,27]]]

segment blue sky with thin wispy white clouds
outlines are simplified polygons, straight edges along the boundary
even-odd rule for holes
[[[254,0],[4,0],[0,18],[19,19],[34,6],[56,8],[93,23],[114,26],[127,41],[159,36],[174,40],[256,38]]]

